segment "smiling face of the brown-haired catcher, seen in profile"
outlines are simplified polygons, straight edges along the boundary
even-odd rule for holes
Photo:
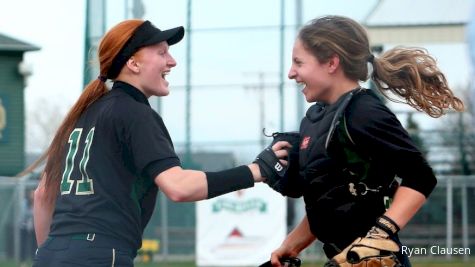
[[[302,41],[295,41],[288,77],[303,85],[307,102],[326,101],[332,87],[332,71],[329,63],[320,63]]]

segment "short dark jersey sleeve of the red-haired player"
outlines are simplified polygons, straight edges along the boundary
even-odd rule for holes
[[[133,114],[127,143],[135,168],[153,179],[169,168],[180,166],[180,160],[162,118],[149,108],[138,113]]]

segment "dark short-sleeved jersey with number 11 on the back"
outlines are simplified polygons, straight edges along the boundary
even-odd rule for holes
[[[83,112],[65,146],[50,235],[103,234],[140,248],[155,206],[154,178],[180,165],[145,95],[115,82]]]

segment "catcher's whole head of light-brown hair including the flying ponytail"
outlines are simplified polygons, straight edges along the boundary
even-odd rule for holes
[[[462,100],[454,96],[436,60],[423,48],[395,47],[374,58],[366,30],[342,16],[315,19],[300,30],[298,38],[321,63],[337,54],[345,75],[353,80],[368,79],[370,61],[370,78],[391,101],[409,104],[431,117],[440,117],[447,109],[464,110]],[[392,98],[389,92],[402,100]]]

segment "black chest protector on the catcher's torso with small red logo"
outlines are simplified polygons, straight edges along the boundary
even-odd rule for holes
[[[385,201],[390,202],[395,190],[394,175],[364,153],[348,128],[347,110],[355,96],[370,91],[350,91],[320,115],[307,116],[301,125],[307,217],[312,232],[324,243],[344,244],[364,235],[384,213]]]

